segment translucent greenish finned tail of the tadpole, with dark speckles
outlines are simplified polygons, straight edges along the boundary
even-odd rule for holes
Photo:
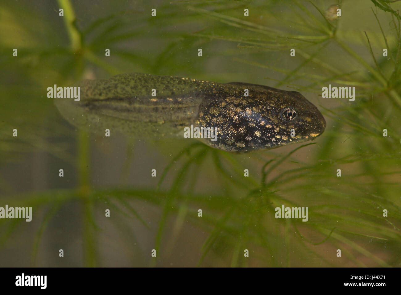
[[[61,114],[74,126],[102,133],[114,128],[123,133],[175,133],[192,124],[201,101],[213,82],[157,76],[121,74],[110,79],[82,80],[80,100],[55,99]]]

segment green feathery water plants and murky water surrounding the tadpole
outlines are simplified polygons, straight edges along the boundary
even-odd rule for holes
[[[69,0],[32,9],[28,1],[3,3],[0,205],[32,207],[37,222],[29,224],[34,234],[28,234],[24,243],[30,246],[24,248],[17,237],[26,234],[26,222],[1,219],[0,255],[14,245],[30,250],[32,266],[126,265],[107,258],[113,255],[133,266],[170,266],[170,261],[186,266],[401,266],[400,4],[343,1],[337,18],[327,15],[332,4],[179,1],[155,6],[152,17],[156,4],[145,1],[90,9]],[[12,56],[14,48],[18,57]],[[318,106],[327,127],[315,142],[246,155],[197,141],[144,143],[128,136],[124,155],[116,157],[107,152],[113,137],[95,137],[68,125],[46,89],[127,72],[299,91]],[[355,101],[321,98],[329,84],[355,87]],[[18,137],[12,137],[14,128]],[[102,149],[106,152],[93,155]],[[163,159],[162,166],[147,149]],[[44,154],[51,163],[40,164]],[[112,178],[115,167],[101,171],[101,177],[95,167],[107,165],[96,161],[108,157],[124,163],[117,165],[119,179],[103,185],[99,179]],[[144,164],[143,157],[152,164]],[[42,169],[28,168],[35,165]],[[66,167],[69,176],[59,177],[59,167]],[[132,184],[132,169],[139,171],[134,173],[138,185]],[[19,170],[34,174],[33,182],[41,182],[37,173],[45,173],[47,184],[27,183]],[[276,219],[275,208],[282,205],[308,207],[308,222]],[[77,208],[79,213],[72,214]],[[106,209],[111,210],[108,218]],[[69,226],[79,232],[82,257],[59,262],[68,235],[76,238],[71,230],[65,232]],[[186,261],[177,251],[186,252]]]

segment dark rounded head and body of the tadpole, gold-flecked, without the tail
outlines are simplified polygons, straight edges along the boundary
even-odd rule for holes
[[[240,83],[238,83],[240,84]],[[243,88],[249,90],[249,96]],[[245,84],[232,96],[205,100],[198,126],[217,128],[217,140],[206,144],[225,151],[245,153],[312,140],[322,134],[326,121],[299,92]]]

